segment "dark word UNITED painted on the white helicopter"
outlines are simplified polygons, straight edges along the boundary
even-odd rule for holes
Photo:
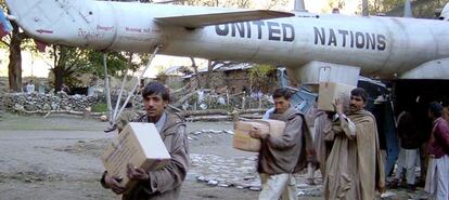
[[[277,22],[243,22],[215,25],[217,36],[233,38],[266,38],[270,41],[293,42],[295,40],[295,27],[291,24]]]

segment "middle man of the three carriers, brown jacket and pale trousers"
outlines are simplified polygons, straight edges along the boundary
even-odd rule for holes
[[[259,200],[278,200],[281,196],[282,199],[297,199],[292,174],[307,165],[306,157],[312,160],[315,156],[310,131],[304,116],[291,107],[291,96],[287,89],[278,89],[272,95],[274,110],[269,114],[269,119],[285,121],[281,136],[273,137],[259,130],[249,132],[252,137],[261,141],[257,165],[262,183]]]

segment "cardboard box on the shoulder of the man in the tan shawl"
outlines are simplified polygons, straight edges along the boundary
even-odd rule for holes
[[[318,91],[318,109],[325,111],[335,111],[333,104],[335,99],[343,99],[349,103],[350,91],[356,86],[336,82],[320,82]]]

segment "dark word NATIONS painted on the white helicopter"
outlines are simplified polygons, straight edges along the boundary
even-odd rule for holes
[[[381,34],[313,27],[315,44],[385,51],[386,37]]]

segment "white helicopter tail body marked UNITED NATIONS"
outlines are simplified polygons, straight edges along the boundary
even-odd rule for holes
[[[187,28],[158,18],[235,10],[88,0],[26,1],[29,3],[7,3],[17,24],[47,43],[128,52],[152,52],[162,45],[161,54],[290,68],[328,62],[360,67],[362,75],[377,77],[393,77],[449,57],[449,24],[444,21],[304,14]],[[14,9],[18,3],[28,5]]]

